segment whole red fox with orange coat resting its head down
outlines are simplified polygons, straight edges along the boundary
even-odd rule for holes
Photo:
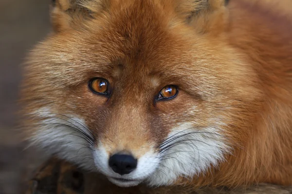
[[[121,187],[292,184],[290,0],[55,0],[26,137]]]

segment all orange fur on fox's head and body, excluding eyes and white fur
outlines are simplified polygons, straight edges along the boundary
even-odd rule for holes
[[[55,32],[25,65],[26,115],[44,106],[76,113],[109,150],[131,147],[137,157],[178,122],[205,126],[217,115],[232,154],[176,184],[292,184],[289,0],[64,1],[52,11]],[[108,102],[92,94],[95,76],[120,92]],[[151,105],[167,84],[182,88],[178,97]],[[27,136],[38,119],[24,119]]]

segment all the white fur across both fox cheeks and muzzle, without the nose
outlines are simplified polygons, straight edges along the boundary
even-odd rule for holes
[[[86,140],[86,135],[91,134],[84,129],[85,123],[81,118],[66,115],[75,121],[70,119],[70,122],[73,122],[70,124],[66,121],[68,118],[60,119],[58,115],[52,117],[54,115],[48,109],[39,110],[35,115],[47,119],[41,121],[39,129],[31,137],[32,143],[43,147],[49,154],[57,154],[58,157],[84,169],[100,171],[108,177],[121,178],[109,168],[109,155],[104,146],[99,143],[93,147]],[[77,127],[86,135],[55,123]],[[206,171],[211,164],[216,166],[223,161],[224,154],[229,152],[230,147],[225,144],[220,130],[212,127],[198,130],[192,128],[193,123],[182,123],[172,129],[161,147],[164,150],[160,153],[149,150],[138,159],[137,169],[123,178],[141,181],[145,179],[150,186],[170,185],[181,176],[193,178]],[[168,149],[165,149],[166,147]]]

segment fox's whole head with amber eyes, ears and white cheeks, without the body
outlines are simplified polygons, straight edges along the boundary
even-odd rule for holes
[[[123,187],[209,184],[246,153],[264,98],[226,15],[219,0],[56,0],[24,68],[28,139]]]

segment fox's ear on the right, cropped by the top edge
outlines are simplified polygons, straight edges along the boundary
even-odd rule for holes
[[[201,33],[221,31],[228,17],[229,0],[174,0],[174,3],[176,13]]]

